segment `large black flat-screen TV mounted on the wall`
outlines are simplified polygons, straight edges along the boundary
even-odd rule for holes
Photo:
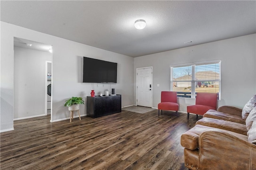
[[[117,63],[84,57],[83,82],[116,83]]]

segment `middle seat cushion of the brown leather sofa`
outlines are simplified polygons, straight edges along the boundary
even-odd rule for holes
[[[196,125],[204,125],[215,127],[218,129],[224,129],[227,131],[232,131],[236,133],[240,133],[243,135],[247,135],[248,130],[246,129],[246,125],[241,123],[236,123],[233,121],[226,121],[222,119],[213,119],[209,117],[204,117],[196,122]]]

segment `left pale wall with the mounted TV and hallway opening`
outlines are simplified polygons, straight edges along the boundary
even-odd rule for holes
[[[112,84],[111,88],[122,94],[122,106],[134,104],[134,58],[1,21],[1,132],[13,128],[14,37],[52,45],[52,121],[70,116],[68,108],[63,106],[68,98],[81,96],[85,100],[86,96],[90,96],[92,85],[81,83],[83,56],[118,63],[118,83]],[[94,88],[96,94],[109,89],[108,84],[98,84],[98,87],[94,84]],[[86,114],[86,106],[80,107],[80,114]]]

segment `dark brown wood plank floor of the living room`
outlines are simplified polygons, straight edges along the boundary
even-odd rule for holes
[[[180,136],[196,115],[122,111],[50,123],[50,115],[14,121],[0,134],[1,170],[187,170]]]

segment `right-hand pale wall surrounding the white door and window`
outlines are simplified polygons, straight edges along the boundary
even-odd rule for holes
[[[256,92],[256,35],[246,35],[202,45],[134,58],[136,68],[153,66],[153,107],[160,102],[161,91],[170,90],[170,65],[221,60],[221,101],[218,106],[242,108]],[[156,84],[160,84],[159,87]],[[136,88],[134,88],[134,101]],[[180,111],[195,104],[195,99],[179,98]]]

